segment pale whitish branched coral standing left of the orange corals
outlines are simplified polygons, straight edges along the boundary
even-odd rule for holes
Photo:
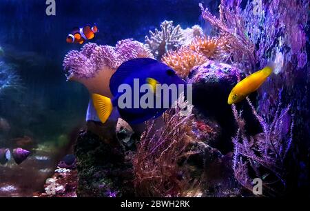
[[[183,30],[173,25],[173,21],[163,21],[161,31],[149,31],[150,36],[145,36],[145,46],[152,51],[156,59],[161,59],[169,50],[176,50],[184,40]]]

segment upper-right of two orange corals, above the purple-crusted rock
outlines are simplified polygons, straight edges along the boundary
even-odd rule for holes
[[[227,43],[224,39],[216,37],[196,37],[189,45],[191,50],[202,53],[208,59],[217,59],[225,50]]]

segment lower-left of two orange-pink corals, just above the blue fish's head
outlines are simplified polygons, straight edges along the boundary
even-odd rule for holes
[[[207,58],[203,54],[194,52],[187,47],[181,47],[179,50],[167,52],[161,61],[176,70],[180,77],[185,78],[195,66],[205,63]]]

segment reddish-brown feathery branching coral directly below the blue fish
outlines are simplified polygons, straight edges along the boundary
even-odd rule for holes
[[[187,190],[198,184],[189,177],[186,166],[180,164],[190,154],[196,153],[188,149],[192,118],[192,115],[181,115],[176,108],[163,114],[164,125],[158,130],[154,121],[147,121],[133,162],[138,195],[185,196]]]

